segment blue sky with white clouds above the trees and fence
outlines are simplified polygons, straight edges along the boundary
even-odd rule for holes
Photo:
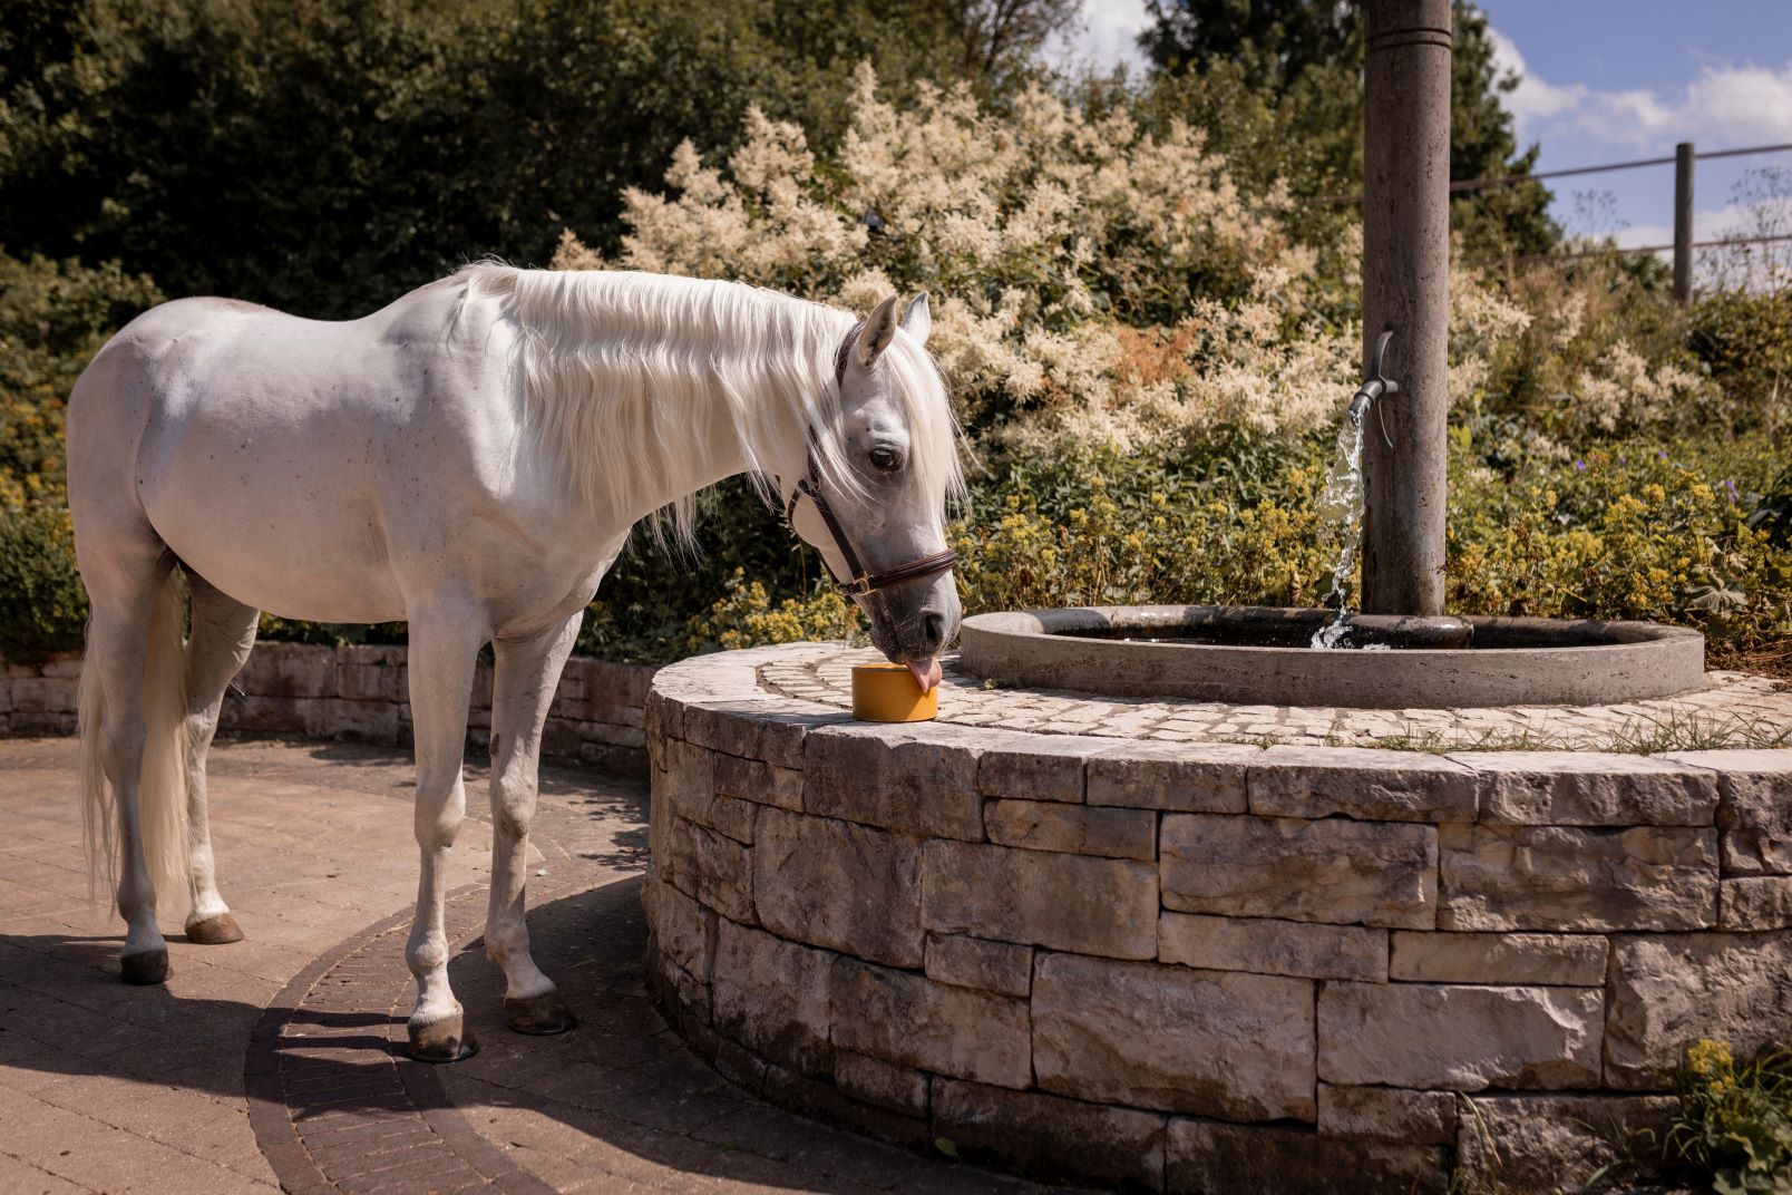
[[[1505,97],[1539,170],[1792,143],[1792,0],[1482,0],[1500,63],[1521,73]],[[1140,66],[1143,0],[1084,0],[1084,29],[1061,59]],[[1751,168],[1792,176],[1792,152],[1701,161],[1699,240],[1747,222],[1736,185]],[[1622,245],[1674,240],[1674,167],[1552,183],[1570,233]]]

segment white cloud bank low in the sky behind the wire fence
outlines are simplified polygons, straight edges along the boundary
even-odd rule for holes
[[[1493,32],[1493,43],[1495,61],[1521,73],[1507,97],[1520,143],[1584,136],[1659,154],[1676,142],[1710,149],[1792,142],[1792,59],[1778,70],[1708,63],[1681,88],[1600,91],[1548,82],[1525,70],[1509,38]]]

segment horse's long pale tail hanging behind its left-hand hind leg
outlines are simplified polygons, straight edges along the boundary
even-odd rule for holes
[[[156,595],[143,659],[143,770],[136,787],[143,860],[159,901],[179,899],[188,883],[186,855],[186,647],[185,602],[176,573]],[[100,670],[88,634],[88,658],[81,666],[77,697],[81,736],[75,769],[81,787],[88,842],[88,899],[104,865],[106,881],[118,887],[118,801],[106,779],[106,701]]]

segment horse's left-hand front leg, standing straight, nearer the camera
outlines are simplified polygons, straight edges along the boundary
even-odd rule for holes
[[[410,720],[418,751],[416,833],[423,855],[418,919],[405,960],[418,978],[410,1014],[410,1057],[455,1062],[478,1045],[466,1030],[461,1002],[448,987],[448,853],[466,817],[461,758],[466,749],[466,706],[473,666],[486,640],[482,615],[468,606],[435,606],[410,620]]]

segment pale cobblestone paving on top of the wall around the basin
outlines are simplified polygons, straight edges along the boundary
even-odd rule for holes
[[[851,708],[851,670],[882,659],[871,650],[815,647],[760,666],[772,693]],[[1125,701],[1050,690],[984,688],[950,658],[939,720],[1041,735],[1154,738],[1177,744],[1260,742],[1367,747],[1409,740],[1426,747],[1511,745],[1525,736],[1548,749],[1624,751],[1640,738],[1733,735],[1792,738],[1792,690],[1742,672],[1708,672],[1706,688],[1624,706],[1509,706],[1498,709],[1330,709],[1228,706],[1199,701]],[[1684,747],[1684,742],[1676,744]],[[1742,744],[1726,744],[1742,745]],[[1770,745],[1749,742],[1747,745]]]

